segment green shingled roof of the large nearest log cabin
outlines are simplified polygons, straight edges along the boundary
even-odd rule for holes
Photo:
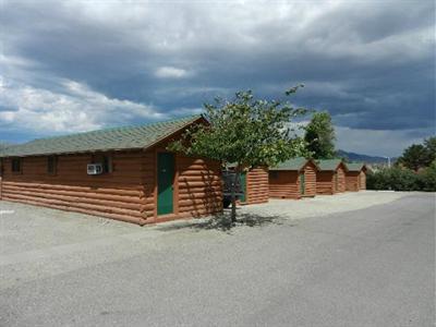
[[[201,116],[190,116],[136,126],[38,138],[24,144],[8,146],[0,152],[0,157],[147,148],[199,118]]]

